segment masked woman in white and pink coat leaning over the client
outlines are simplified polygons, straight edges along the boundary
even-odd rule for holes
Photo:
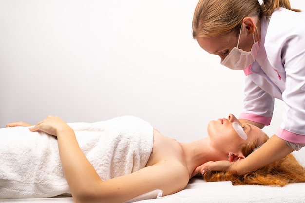
[[[269,125],[274,99],[284,101],[275,134],[240,162],[209,162],[196,169],[254,171],[305,146],[305,13],[289,0],[200,0],[193,37],[221,64],[244,70],[245,99],[240,121]],[[292,169],[293,170],[293,169]]]

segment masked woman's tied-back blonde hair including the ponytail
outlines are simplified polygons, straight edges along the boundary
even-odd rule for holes
[[[268,19],[275,9],[292,9],[289,0],[199,0],[193,17],[193,37],[209,38],[216,35],[238,33],[242,20],[263,15]]]

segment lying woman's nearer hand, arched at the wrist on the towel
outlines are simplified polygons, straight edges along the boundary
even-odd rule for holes
[[[57,137],[64,132],[73,131],[71,127],[58,116],[48,116],[36,126],[30,128],[31,131],[43,131],[49,135]]]

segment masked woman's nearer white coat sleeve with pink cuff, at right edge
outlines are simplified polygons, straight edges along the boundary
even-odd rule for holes
[[[290,19],[290,20],[287,20]],[[265,48],[271,65],[285,73],[284,113],[275,133],[293,143],[305,143],[305,13],[281,9],[273,13]],[[285,29],[284,29],[285,28]]]

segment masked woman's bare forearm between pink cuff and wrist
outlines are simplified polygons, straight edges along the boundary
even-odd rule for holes
[[[273,135],[262,147],[248,157],[240,162],[235,162],[231,170],[235,170],[238,174],[245,174],[278,161],[293,151],[284,140]]]

